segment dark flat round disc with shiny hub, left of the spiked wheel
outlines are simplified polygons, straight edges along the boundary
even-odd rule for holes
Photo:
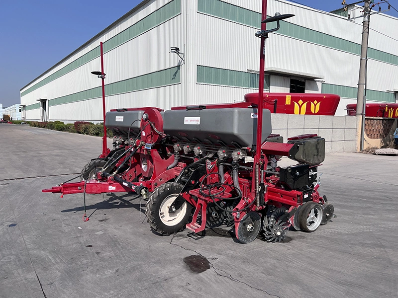
[[[261,228],[261,217],[257,212],[246,213],[237,223],[236,238],[241,243],[252,242],[258,236]]]

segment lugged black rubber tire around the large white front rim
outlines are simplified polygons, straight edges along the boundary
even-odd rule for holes
[[[164,200],[170,195],[179,194],[183,189],[183,185],[176,182],[167,182],[158,188],[150,195],[149,201],[146,204],[146,216],[148,217],[149,224],[153,231],[161,235],[170,235],[180,230],[185,229],[185,225],[188,224],[188,219],[191,216],[192,205],[188,202],[184,202],[187,206],[186,214],[174,225],[166,225],[160,218],[160,207]]]

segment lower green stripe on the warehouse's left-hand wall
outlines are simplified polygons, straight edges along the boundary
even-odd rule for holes
[[[173,67],[159,72],[144,74],[122,81],[105,85],[105,96],[127,92],[163,87],[181,82],[180,67]],[[66,104],[76,101],[89,100],[102,96],[101,87],[57,97],[48,101],[49,106]]]

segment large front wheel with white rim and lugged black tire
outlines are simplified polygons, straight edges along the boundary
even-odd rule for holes
[[[151,228],[157,233],[170,235],[184,229],[188,223],[192,205],[178,196],[182,189],[180,183],[168,182],[156,188],[150,195],[146,215]],[[184,200],[181,207],[170,208],[177,198]]]

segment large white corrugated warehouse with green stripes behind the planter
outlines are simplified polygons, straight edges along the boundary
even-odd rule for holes
[[[22,117],[101,121],[101,80],[91,74],[100,70],[100,42],[106,110],[243,101],[258,86],[261,4],[144,0],[24,86]],[[329,13],[269,0],[268,15],[276,12],[296,16],[266,41],[265,90],[339,94],[336,115],[345,115],[357,97],[360,6]],[[398,19],[378,13],[370,26],[367,100],[396,102]]]

